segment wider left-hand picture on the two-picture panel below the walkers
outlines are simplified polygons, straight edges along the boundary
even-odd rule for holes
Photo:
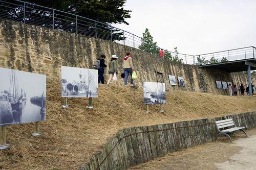
[[[88,98],[89,92],[88,69],[61,66],[62,98]]]

